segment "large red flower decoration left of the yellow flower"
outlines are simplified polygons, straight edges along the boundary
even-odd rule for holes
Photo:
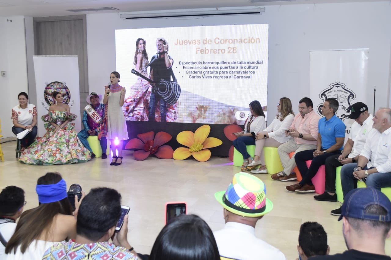
[[[174,150],[171,146],[163,145],[172,139],[172,136],[166,132],[147,132],[138,134],[138,138],[131,139],[125,146],[125,149],[138,149],[135,151],[137,161],[145,160],[149,155],[154,154],[161,159],[171,159]],[[155,138],[154,138],[155,137]]]

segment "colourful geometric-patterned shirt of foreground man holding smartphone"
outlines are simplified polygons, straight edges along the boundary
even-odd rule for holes
[[[49,248],[42,260],[140,260],[126,248],[109,242],[77,244],[73,239],[60,242]]]

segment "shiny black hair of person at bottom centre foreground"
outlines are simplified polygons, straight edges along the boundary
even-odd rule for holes
[[[220,260],[215,237],[197,215],[179,215],[159,233],[149,260]]]

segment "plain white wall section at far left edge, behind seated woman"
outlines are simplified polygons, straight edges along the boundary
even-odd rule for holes
[[[11,109],[18,105],[20,92],[28,93],[24,16],[0,17],[0,35],[0,71],[7,71],[0,77],[0,119],[2,134],[12,137]]]

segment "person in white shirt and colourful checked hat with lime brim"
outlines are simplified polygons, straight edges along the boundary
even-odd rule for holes
[[[215,193],[224,207],[225,226],[213,232],[220,256],[241,260],[286,260],[283,253],[255,237],[256,221],[273,209],[265,184],[248,173],[233,176],[227,191]]]

